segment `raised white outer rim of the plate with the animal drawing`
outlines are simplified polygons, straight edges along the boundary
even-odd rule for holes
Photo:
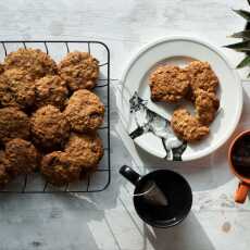
[[[221,148],[229,138],[230,136],[234,134],[235,129],[237,128],[237,125],[239,123],[241,113],[242,113],[242,107],[243,107],[243,89],[242,89],[242,84],[241,84],[241,79],[239,77],[238,72],[236,71],[236,68],[233,66],[233,63],[230,63],[230,61],[226,58],[226,55],[214,45],[212,45],[211,42],[204,40],[203,38],[197,37],[197,36],[182,36],[182,35],[174,35],[174,36],[167,36],[167,37],[162,37],[160,39],[153,40],[145,46],[142,46],[128,61],[125,70],[123,71],[122,77],[121,77],[121,84],[122,84],[122,89],[121,92],[118,95],[118,97],[121,98],[116,98],[116,103],[117,105],[123,110],[123,91],[124,91],[124,80],[126,79],[126,76],[130,70],[130,67],[133,66],[133,64],[135,63],[135,61],[145,52],[147,52],[150,48],[155,47],[159,43],[162,42],[168,42],[168,41],[174,41],[174,40],[186,40],[186,41],[190,41],[190,42],[195,42],[195,43],[200,43],[202,46],[208,47],[210,50],[214,51],[230,68],[230,71],[233,72],[234,76],[235,76],[235,80],[238,83],[239,86],[239,105],[238,105],[238,112],[237,112],[237,116],[235,118],[235,123],[234,126],[232,126],[232,129],[228,130],[228,133],[225,135],[224,139],[215,145],[215,146],[211,146],[208,148],[208,150],[203,151],[202,153],[196,154],[196,157],[188,157],[187,159],[184,159],[183,161],[187,162],[187,161],[192,161],[192,160],[197,160],[197,159],[201,159],[203,157],[207,157],[211,153],[213,153],[215,150],[217,150],[218,148]],[[120,115],[121,116],[121,115]],[[123,117],[121,117],[121,121],[123,124],[127,125],[126,122],[124,121]],[[151,155],[154,155],[157,158],[160,158],[159,155],[152,154],[149,150],[147,150],[145,147],[141,147],[139,143],[137,143],[135,140],[133,140],[134,143],[138,145],[140,148],[142,148],[143,150],[146,150],[148,153],[150,153]],[[172,161],[172,160],[171,160]]]

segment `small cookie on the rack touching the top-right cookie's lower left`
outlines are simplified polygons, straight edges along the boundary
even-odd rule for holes
[[[48,75],[38,79],[35,84],[35,91],[37,108],[51,104],[62,109],[68,95],[65,82],[57,75]]]

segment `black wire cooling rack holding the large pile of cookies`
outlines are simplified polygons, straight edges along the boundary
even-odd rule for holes
[[[50,54],[55,61],[60,61],[66,53],[78,50],[88,51],[99,60],[100,77],[93,89],[105,105],[104,124],[99,128],[99,135],[102,138],[104,155],[99,163],[97,171],[88,175],[87,178],[65,185],[64,187],[54,187],[43,180],[39,173],[20,176],[7,187],[0,190],[0,193],[52,193],[52,192],[100,192],[110,184],[111,162],[110,162],[110,50],[105,43],[96,40],[82,41],[61,41],[61,40],[5,40],[0,41],[0,59],[17,50],[18,48],[36,48]]]

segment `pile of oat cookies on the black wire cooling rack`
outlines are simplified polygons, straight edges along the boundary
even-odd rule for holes
[[[18,49],[0,65],[0,185],[39,170],[57,186],[96,170],[104,105],[90,90],[99,62],[71,52],[59,64],[39,49]]]

